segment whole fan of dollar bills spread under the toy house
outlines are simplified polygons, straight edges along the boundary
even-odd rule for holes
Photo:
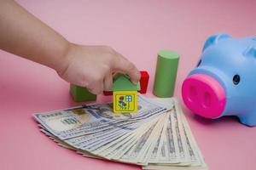
[[[112,110],[93,104],[33,116],[49,139],[83,156],[143,169],[207,169],[176,99],[138,95],[137,113]]]

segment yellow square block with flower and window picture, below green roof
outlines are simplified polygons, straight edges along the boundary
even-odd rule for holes
[[[137,112],[137,91],[113,91],[113,112]]]

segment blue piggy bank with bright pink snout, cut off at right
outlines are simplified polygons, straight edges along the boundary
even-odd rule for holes
[[[215,119],[237,116],[256,125],[256,37],[208,37],[196,68],[182,86],[184,104],[195,114]]]

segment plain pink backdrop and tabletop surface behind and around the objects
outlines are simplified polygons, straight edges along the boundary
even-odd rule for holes
[[[226,31],[256,35],[256,1],[32,1],[19,3],[68,40],[106,44],[150,74],[156,53],[181,54],[175,96],[195,66],[206,38]],[[79,105],[55,71],[0,51],[0,169],[140,169],[98,161],[61,148],[39,132],[32,113]],[[109,100],[100,96],[99,101]],[[256,127],[235,117],[206,120],[183,108],[210,169],[256,169]]]

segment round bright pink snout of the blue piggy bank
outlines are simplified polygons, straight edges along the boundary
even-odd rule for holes
[[[221,116],[226,94],[221,84],[206,74],[194,74],[183,82],[183,101],[195,114],[216,118]]]

